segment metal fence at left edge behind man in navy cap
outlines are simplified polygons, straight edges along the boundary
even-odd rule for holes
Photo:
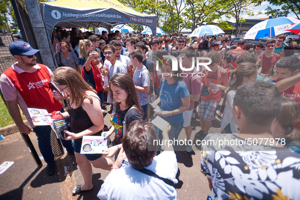
[[[16,62],[16,59],[9,52],[9,44],[14,42],[11,34],[0,34],[0,73],[10,68]]]

